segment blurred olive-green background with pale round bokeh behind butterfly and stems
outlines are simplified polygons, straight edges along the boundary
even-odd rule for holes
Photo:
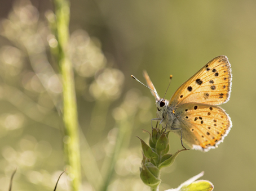
[[[144,81],[170,98],[208,61],[226,55],[232,93],[222,107],[233,127],[217,149],[179,154],[161,174],[160,190],[205,171],[215,190],[253,190],[256,172],[255,1],[70,2],[70,57],[81,126],[82,190],[98,190],[118,129],[125,132],[109,190],[149,190],[139,179],[138,136],[151,129],[155,99]],[[51,1],[0,1],[0,190],[53,190],[61,171],[63,124]],[[170,134],[171,153],[182,149]],[[90,158],[89,156],[93,156]],[[90,169],[91,167],[91,169]],[[68,190],[64,174],[58,190]]]

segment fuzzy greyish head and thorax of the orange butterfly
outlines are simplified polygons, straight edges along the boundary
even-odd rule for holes
[[[175,116],[173,108],[168,106],[169,101],[166,99],[159,99],[156,101],[157,107],[157,119],[160,120],[160,124],[163,128],[172,129],[179,122]]]

